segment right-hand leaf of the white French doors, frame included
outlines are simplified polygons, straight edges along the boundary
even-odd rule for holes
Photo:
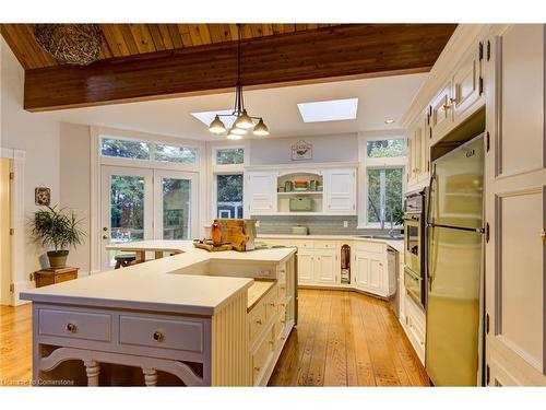
[[[154,238],[192,239],[199,234],[198,174],[154,171]]]

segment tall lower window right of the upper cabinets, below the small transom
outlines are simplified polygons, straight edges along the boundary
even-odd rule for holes
[[[396,221],[400,216],[402,175],[401,167],[368,168],[368,224],[384,222],[390,226],[391,221]]]

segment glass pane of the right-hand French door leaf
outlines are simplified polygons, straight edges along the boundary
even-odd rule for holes
[[[163,238],[189,239],[191,180],[163,178]]]

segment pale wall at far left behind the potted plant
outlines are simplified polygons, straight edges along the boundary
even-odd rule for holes
[[[37,209],[34,203],[35,187],[51,188],[51,203],[59,202],[59,125],[45,115],[23,109],[24,70],[3,38],[0,38],[0,145],[23,150],[26,154],[24,213],[27,222]],[[34,285],[28,276],[39,269],[39,257],[43,255],[43,249],[29,239],[27,223],[25,225],[24,269],[13,278],[15,292]]]

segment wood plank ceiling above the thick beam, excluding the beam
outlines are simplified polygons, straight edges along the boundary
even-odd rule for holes
[[[248,39],[335,25],[339,24],[245,24],[240,34]],[[102,60],[237,39],[236,24],[100,24],[100,28]],[[36,43],[32,24],[2,24],[0,30],[25,70],[59,66]]]

